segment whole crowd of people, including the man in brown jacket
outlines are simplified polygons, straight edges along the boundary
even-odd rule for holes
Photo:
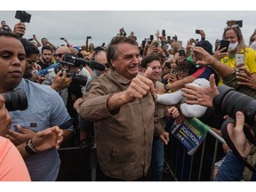
[[[57,149],[95,146],[100,180],[161,181],[164,145],[172,139],[172,124],[166,123],[184,117],[204,121],[209,108],[221,114],[212,115],[215,130],[221,128],[215,121],[236,120],[221,128],[228,132],[229,149],[214,180],[243,180],[245,164],[238,155],[252,153],[254,132],[249,139],[243,128],[253,124],[246,122],[244,108],[232,108],[232,116],[216,98],[225,84],[256,99],[255,33],[246,45],[239,26],[228,26],[222,39],[229,45],[220,48],[221,40],[212,47],[201,29],[201,39],[182,47],[165,30],[140,43],[134,31],[127,36],[120,28],[108,46],[89,44],[91,36],[77,46],[64,37],[61,45],[36,35],[22,38],[22,22],[13,30],[4,20],[1,25],[0,93],[8,92],[8,102],[17,105],[15,91],[22,89],[27,98],[21,103],[28,106],[7,110],[0,95],[0,180],[65,180]],[[237,54],[244,62],[236,65]]]

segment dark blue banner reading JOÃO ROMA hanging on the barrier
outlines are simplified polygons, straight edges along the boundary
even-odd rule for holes
[[[170,132],[188,148],[188,155],[193,156],[207,135],[209,126],[196,117],[185,118],[179,116],[175,119]]]

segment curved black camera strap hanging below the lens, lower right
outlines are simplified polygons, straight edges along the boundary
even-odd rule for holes
[[[240,161],[242,161],[245,166],[250,169],[252,172],[256,172],[256,168],[254,167],[254,165],[252,164],[249,164],[247,162],[247,158],[243,157],[240,155],[240,153],[238,152],[238,150],[236,149],[236,146],[234,145],[233,141],[230,139],[229,135],[228,135],[228,124],[229,123],[233,123],[235,124],[235,120],[232,119],[232,118],[228,118],[226,121],[224,121],[224,123],[221,125],[221,134],[222,134],[222,137],[224,138],[224,140],[227,142],[228,144],[228,147],[232,150],[232,152],[237,156],[237,158],[240,159]],[[255,145],[255,139],[254,137],[252,136],[252,133],[250,132],[250,130],[244,126],[244,134],[246,136],[246,138],[248,140],[250,140],[252,142],[253,145]]]

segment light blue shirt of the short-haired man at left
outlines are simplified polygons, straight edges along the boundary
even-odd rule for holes
[[[23,111],[9,112],[12,116],[11,130],[16,131],[16,125],[20,124],[23,128],[39,132],[54,125],[63,124],[70,119],[60,95],[50,86],[22,79],[17,88],[26,92],[28,108]],[[68,130],[72,132],[73,125]],[[31,180],[53,181],[57,179],[60,157],[56,148],[29,156],[25,159],[25,163]]]

